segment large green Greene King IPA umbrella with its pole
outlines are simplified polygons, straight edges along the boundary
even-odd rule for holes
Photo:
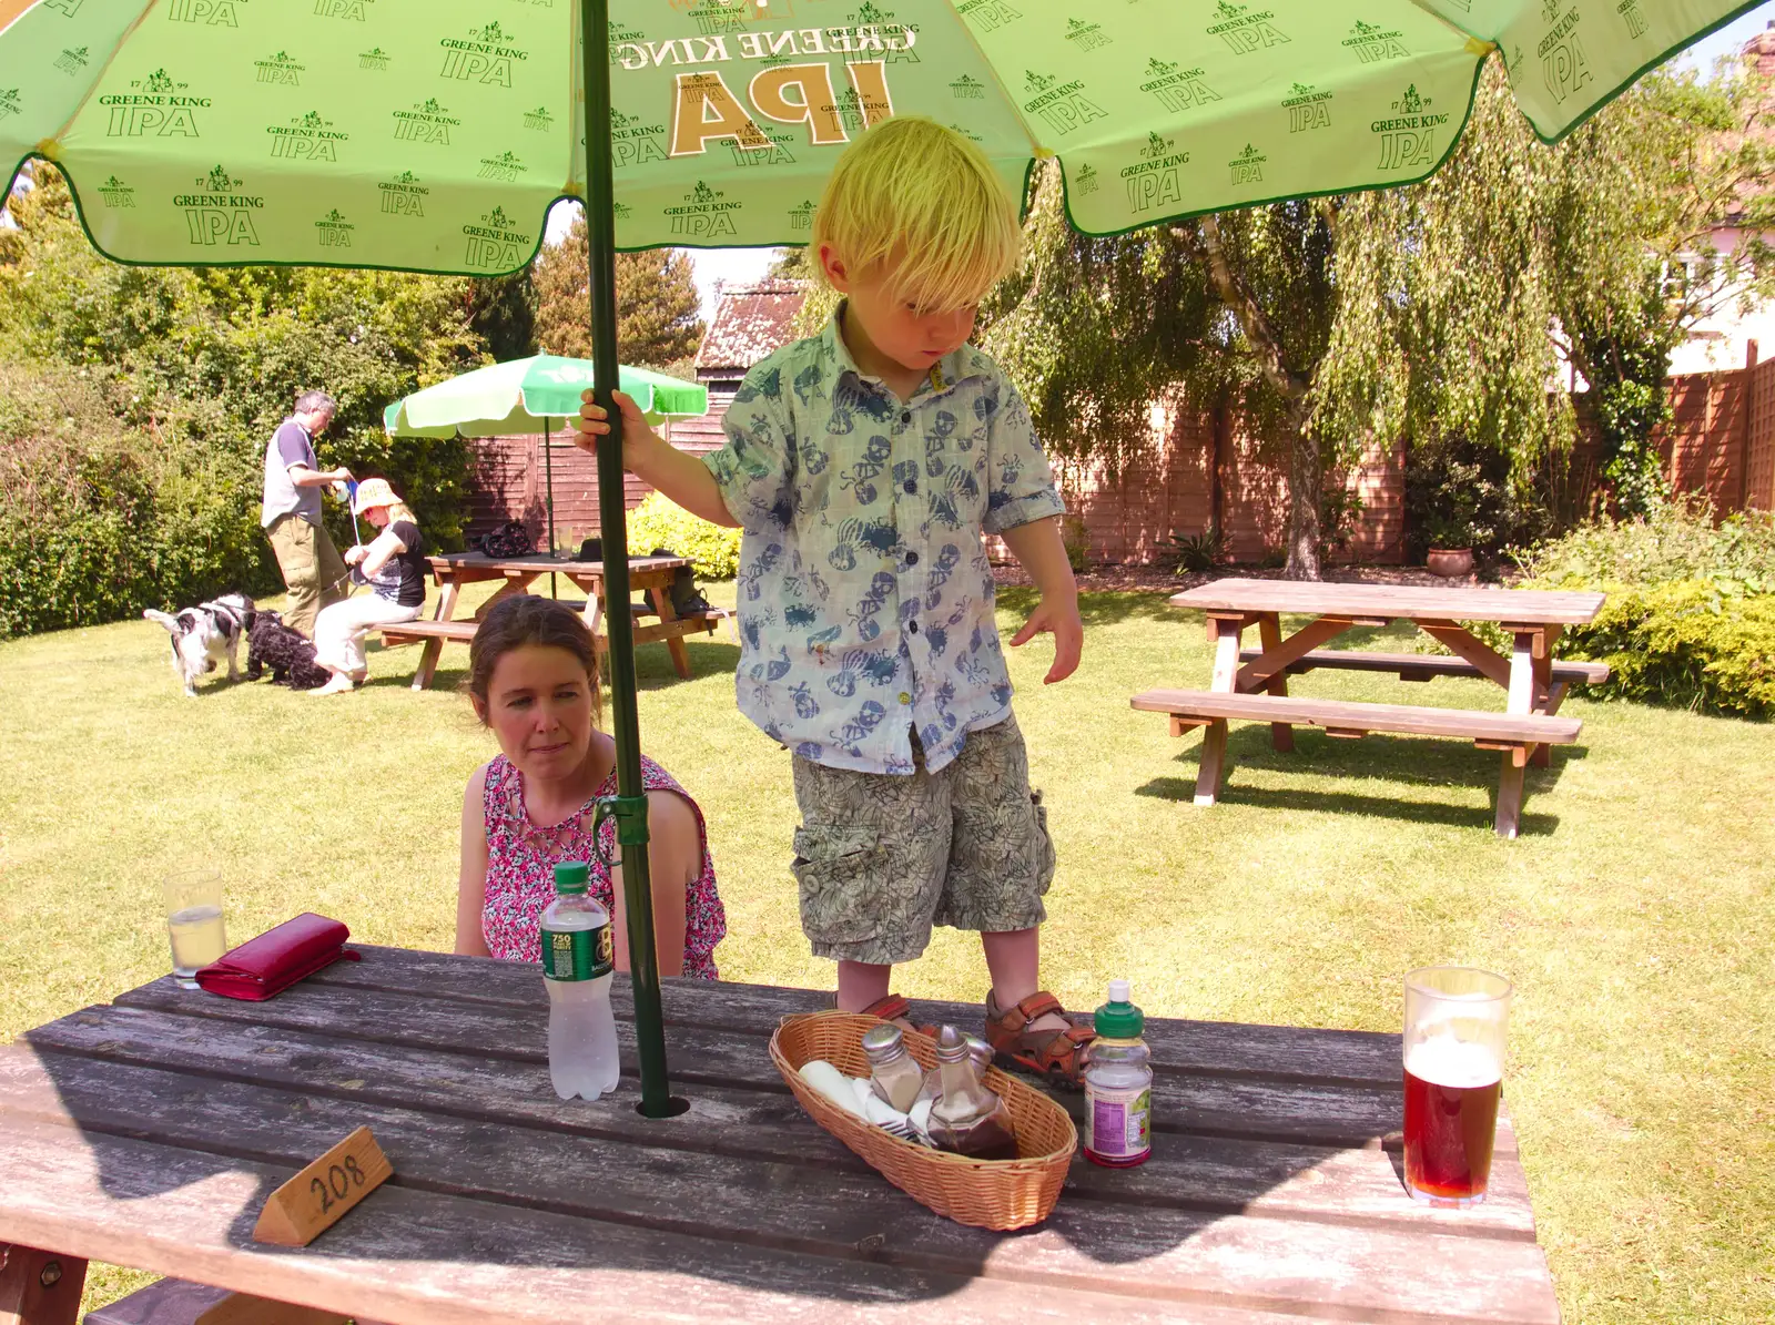
[[[614,252],[802,243],[856,135],[923,114],[1092,234],[1431,174],[1503,60],[1546,140],[1755,0],[0,0],[0,158],[124,263],[495,275],[586,200],[596,394]],[[591,126],[588,135],[586,126]],[[586,151],[586,144],[591,151]],[[619,435],[598,454],[627,596]],[[634,651],[611,623],[643,1112],[667,1112]]]

